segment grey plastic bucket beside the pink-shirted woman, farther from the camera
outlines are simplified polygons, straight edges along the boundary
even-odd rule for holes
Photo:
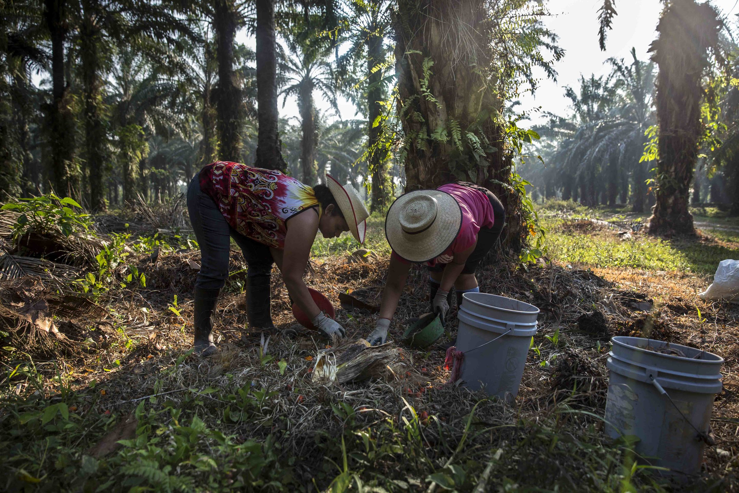
[[[457,350],[464,353],[460,379],[471,389],[512,400],[531,336],[537,333],[539,308],[487,293],[464,293],[462,298],[457,315]]]

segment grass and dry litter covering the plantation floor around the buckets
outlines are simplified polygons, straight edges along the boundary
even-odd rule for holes
[[[712,273],[712,262],[737,253],[736,238],[711,234],[701,242],[680,243],[637,235],[621,241],[607,228],[573,231],[562,208],[540,213],[550,228],[553,259],[612,269],[616,272],[601,275],[620,277],[621,285],[614,289],[647,290],[654,299],[660,296],[660,304],[664,294],[666,304],[700,307],[702,321],[693,311],[672,316],[673,322],[679,319],[675,330],[683,330],[675,337],[704,344],[705,325],[711,330],[708,350],[727,359],[729,390],[715,404],[719,419],[712,426],[721,449],[735,454],[736,324],[735,319],[726,322],[734,315],[722,315],[727,308],[691,298],[695,285],[703,284],[696,276],[685,280],[654,272]],[[611,218],[628,217],[626,211],[612,213]],[[567,214],[602,217],[606,211],[575,206]],[[377,215],[369,218],[364,245],[378,254],[389,253],[383,222]],[[322,258],[306,281],[337,306],[339,291],[383,281],[386,259],[351,265],[341,259],[359,246],[348,234],[319,238],[313,246],[313,254]],[[128,260],[146,269],[155,288],[116,288],[103,294],[109,326],[97,320],[79,322],[84,329],[78,330],[103,332],[100,340],[108,341],[106,346],[91,343],[86,352],[50,359],[9,348],[3,339],[0,447],[6,453],[0,455],[0,491],[682,491],[638,466],[628,438],[615,443],[604,439],[600,416],[607,388],[607,342],[579,333],[576,319],[613,292],[596,288],[599,284],[588,272],[511,264],[480,273],[486,292],[523,299],[543,310],[521,393],[515,404],[506,405],[446,385],[449,373],[443,370],[440,346],[415,351],[398,344],[401,356],[392,375],[378,381],[313,384],[313,358],[324,341],[313,333],[296,339],[276,335],[265,350],[259,334],[247,333],[246,342],[241,341],[245,314],[236,307],[239,296],[229,290],[222,293],[216,320],[219,352],[208,360],[197,358],[188,352],[192,302],[191,286],[186,285],[194,276],[188,259],[197,261],[197,251],[163,251],[154,265],[149,253],[136,252]],[[241,265],[238,259],[234,255],[232,270]],[[652,271],[651,277],[633,268]],[[275,322],[290,327],[289,298],[279,273],[273,277]],[[391,327],[396,341],[406,318],[427,304],[425,278],[423,271],[411,271],[409,291]],[[659,291],[665,279],[680,283],[675,286],[681,290],[670,285]],[[338,310],[338,317],[350,340],[366,335],[374,322],[373,316],[344,310]],[[713,334],[713,324],[724,322]],[[151,329],[137,329],[142,323]],[[571,361],[573,355],[588,367],[573,367],[574,380],[565,379],[557,387],[558,361]],[[588,387],[589,379],[598,385]],[[585,406],[583,398],[593,403]],[[111,451],[102,453],[99,447],[106,443]],[[709,473],[695,491],[739,491],[739,483],[731,479],[733,457],[706,447]]]

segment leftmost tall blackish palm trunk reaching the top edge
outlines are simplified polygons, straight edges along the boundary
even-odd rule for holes
[[[57,194],[72,194],[77,188],[74,170],[74,118],[64,81],[64,40],[67,37],[66,0],[44,0],[44,18],[51,37],[52,101],[47,105],[49,125],[49,179]]]

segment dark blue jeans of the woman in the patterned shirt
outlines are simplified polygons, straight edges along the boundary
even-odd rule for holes
[[[220,289],[228,277],[231,238],[239,245],[248,265],[247,276],[269,275],[272,272],[270,248],[240,234],[225,220],[210,195],[200,191],[200,177],[190,182],[187,190],[187,210],[200,244],[200,272],[196,288]]]

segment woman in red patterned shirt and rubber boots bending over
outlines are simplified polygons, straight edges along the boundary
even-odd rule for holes
[[[324,238],[351,231],[364,242],[369,216],[359,194],[329,174],[327,185],[313,188],[280,171],[219,161],[205,166],[188,188],[188,213],[200,244],[195,283],[195,350],[214,353],[213,315],[228,276],[231,238],[248,265],[246,316],[251,330],[273,330],[270,273],[275,262],[290,298],[328,339],[344,336],[344,327],[319,310],[303,282],[310,248]]]

